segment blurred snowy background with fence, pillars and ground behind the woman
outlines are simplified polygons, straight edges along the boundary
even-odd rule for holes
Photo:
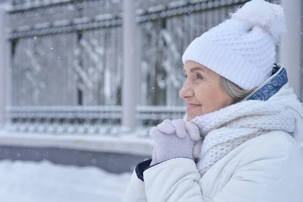
[[[149,128],[184,115],[183,51],[245,2],[2,0],[0,200],[121,201]],[[301,98],[302,1],[270,2]]]

